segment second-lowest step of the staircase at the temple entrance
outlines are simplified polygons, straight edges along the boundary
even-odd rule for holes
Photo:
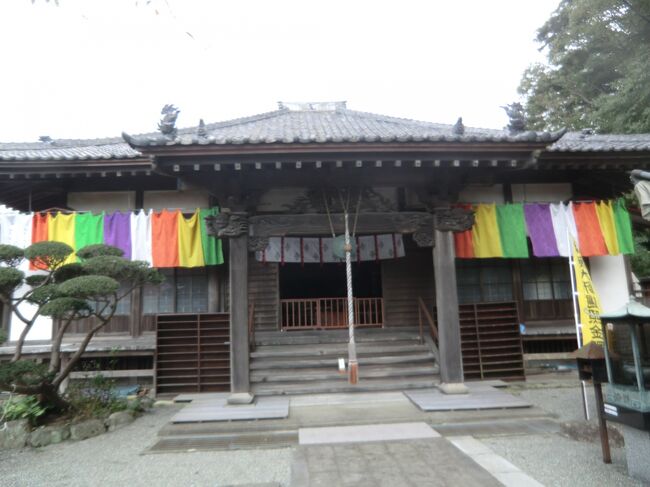
[[[365,378],[398,378],[409,376],[432,376],[438,375],[439,368],[433,363],[423,363],[421,365],[395,364],[393,366],[385,365],[368,365],[360,366],[359,377]],[[335,367],[325,368],[301,368],[301,369],[282,369],[282,370],[254,370],[251,372],[251,382],[307,382],[307,381],[324,381],[337,380],[346,378],[345,373],[341,374]]]

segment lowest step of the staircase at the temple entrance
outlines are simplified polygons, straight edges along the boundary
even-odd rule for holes
[[[345,378],[339,381],[321,381],[306,383],[263,383],[252,384],[251,390],[259,396],[277,396],[292,394],[336,394],[341,392],[403,391],[408,389],[433,388],[438,384],[436,376],[412,377],[400,380],[359,380],[349,384]]]

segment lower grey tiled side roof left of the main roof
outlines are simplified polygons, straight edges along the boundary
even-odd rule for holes
[[[0,161],[136,159],[140,152],[121,138],[0,143]]]

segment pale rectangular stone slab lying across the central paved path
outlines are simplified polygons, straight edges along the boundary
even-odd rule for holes
[[[298,443],[301,445],[418,440],[438,437],[440,435],[426,423],[368,424],[362,426],[300,428],[298,430]]]

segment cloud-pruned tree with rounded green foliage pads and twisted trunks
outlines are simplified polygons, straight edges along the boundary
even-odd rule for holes
[[[0,301],[24,324],[10,362],[0,364],[0,390],[36,395],[53,409],[69,407],[58,393],[59,385],[70,374],[93,336],[111,320],[121,299],[144,284],[159,284],[163,276],[146,262],[131,262],[123,252],[107,245],[91,245],[77,252],[80,262],[65,263],[72,248],[60,242],[38,242],[26,249],[0,245]],[[24,256],[24,257],[23,257]],[[25,276],[17,269],[27,258],[40,270]],[[17,292],[21,289],[20,292]],[[26,290],[25,290],[26,289]],[[23,303],[36,310],[27,316]],[[27,333],[39,316],[60,320],[52,338],[47,366],[22,358]],[[61,345],[70,324],[95,318],[85,336],[61,367]]]

